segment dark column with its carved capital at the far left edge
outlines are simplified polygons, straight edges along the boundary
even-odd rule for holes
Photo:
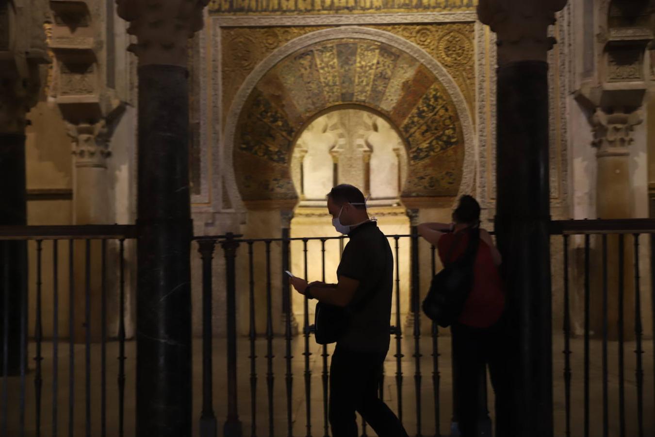
[[[25,128],[41,90],[39,64],[48,62],[45,5],[14,8],[0,3],[0,225],[26,225]],[[7,373],[28,359],[28,255],[25,241],[0,241],[0,363],[7,338]],[[8,330],[5,332],[5,318]],[[0,375],[3,374],[0,365]]]

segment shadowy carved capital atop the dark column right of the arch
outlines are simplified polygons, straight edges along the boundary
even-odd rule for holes
[[[477,16],[498,35],[498,66],[519,61],[544,61],[556,42],[548,37],[555,12],[567,0],[479,0]]]

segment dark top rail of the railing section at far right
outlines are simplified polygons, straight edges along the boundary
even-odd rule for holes
[[[550,235],[651,233],[655,233],[655,219],[652,218],[553,220],[550,223]]]

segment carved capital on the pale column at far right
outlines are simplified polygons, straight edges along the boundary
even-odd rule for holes
[[[603,109],[596,109],[591,116],[591,129],[593,141],[597,147],[597,157],[627,156],[628,146],[633,142],[633,127],[643,122],[641,110],[631,113],[606,113]]]

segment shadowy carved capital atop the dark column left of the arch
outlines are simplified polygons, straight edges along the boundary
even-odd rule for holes
[[[202,9],[210,0],[116,0],[137,43],[128,50],[139,65],[187,66],[187,39],[202,29]]]

